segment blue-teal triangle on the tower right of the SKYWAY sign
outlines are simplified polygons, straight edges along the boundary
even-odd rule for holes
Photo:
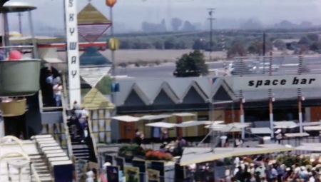
[[[95,47],[88,47],[79,58],[80,66],[111,65],[111,61],[101,54]]]

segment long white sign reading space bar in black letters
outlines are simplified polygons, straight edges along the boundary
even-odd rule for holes
[[[233,77],[234,91],[321,88],[321,75]]]

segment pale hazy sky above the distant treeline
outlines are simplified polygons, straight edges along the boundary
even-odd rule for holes
[[[38,6],[34,11],[35,24],[63,28],[63,0],[20,1]],[[79,11],[88,3],[87,0],[77,1]],[[105,0],[91,2],[109,16]],[[208,8],[216,9],[214,16],[217,19],[258,18],[264,24],[287,19],[296,23],[307,20],[321,24],[321,0],[118,0],[113,8],[113,17],[114,21],[131,29],[140,29],[142,21],[160,22],[170,17],[203,23],[208,18]],[[23,20],[23,26],[27,26],[26,16]],[[17,25],[18,17],[11,15],[10,21]]]

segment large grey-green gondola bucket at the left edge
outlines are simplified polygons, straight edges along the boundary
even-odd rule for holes
[[[0,96],[30,96],[39,91],[40,60],[0,61]]]

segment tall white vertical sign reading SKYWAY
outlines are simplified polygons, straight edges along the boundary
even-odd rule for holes
[[[81,103],[80,74],[79,74],[79,49],[78,49],[78,21],[77,0],[65,0],[66,16],[66,51],[68,60],[68,90],[69,106],[73,102]]]

